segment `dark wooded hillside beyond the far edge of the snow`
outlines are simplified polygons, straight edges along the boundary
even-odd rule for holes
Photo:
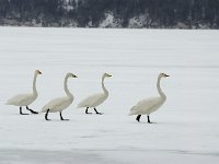
[[[0,24],[34,20],[42,26],[74,22],[81,27],[97,27],[107,12],[120,20],[122,27],[139,15],[147,21],[141,27],[174,27],[178,23],[188,28],[219,27],[219,0],[0,0]]]

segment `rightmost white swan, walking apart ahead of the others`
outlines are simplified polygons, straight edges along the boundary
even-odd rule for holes
[[[162,92],[160,87],[160,81],[162,78],[168,78],[170,75],[165,73],[160,73],[158,75],[158,82],[157,82],[157,87],[160,96],[158,97],[151,97],[148,99],[142,99],[138,104],[136,104],[134,107],[131,107],[130,113],[128,114],[129,116],[131,115],[138,115],[136,120],[140,121],[141,115],[147,115],[148,117],[148,122],[150,124],[150,114],[155,112],[159,107],[163,105],[163,103],[166,99],[165,94]]]

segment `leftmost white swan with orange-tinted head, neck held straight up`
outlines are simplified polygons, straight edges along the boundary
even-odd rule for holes
[[[38,114],[37,112],[34,112],[33,109],[28,108],[28,105],[32,104],[38,96],[38,93],[36,91],[36,78],[38,74],[42,74],[42,72],[39,70],[36,70],[34,72],[33,93],[15,95],[12,98],[10,98],[5,105],[20,106],[21,115],[28,115],[22,113],[22,106],[26,106],[26,109],[30,110],[32,114]]]

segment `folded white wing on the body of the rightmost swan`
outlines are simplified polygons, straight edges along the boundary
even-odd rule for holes
[[[161,98],[160,97],[151,97],[146,98],[140,102],[138,102],[134,107],[131,107],[130,115],[143,115],[150,113],[151,109],[155,108],[157,105],[160,104]]]

